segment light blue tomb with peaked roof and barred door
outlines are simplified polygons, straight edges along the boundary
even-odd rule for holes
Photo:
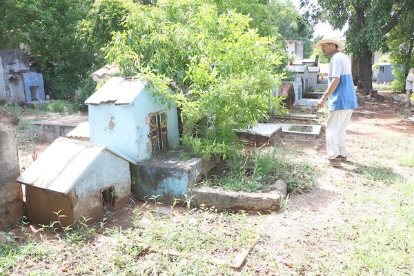
[[[153,97],[141,79],[112,77],[85,103],[93,143],[137,162],[179,145],[177,108]]]

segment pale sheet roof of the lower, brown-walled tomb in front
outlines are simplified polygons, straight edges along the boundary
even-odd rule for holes
[[[101,144],[60,137],[20,175],[17,181],[68,195],[82,173],[104,150],[109,149]],[[121,155],[120,157],[124,158]]]

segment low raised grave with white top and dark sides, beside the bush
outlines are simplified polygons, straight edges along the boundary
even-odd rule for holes
[[[275,146],[276,142],[282,137],[282,127],[275,124],[257,124],[249,130],[239,130],[236,134],[239,140],[246,141],[248,144]]]

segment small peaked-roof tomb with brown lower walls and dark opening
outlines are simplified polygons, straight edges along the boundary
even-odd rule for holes
[[[63,226],[101,219],[130,200],[130,164],[108,146],[56,139],[17,179],[26,186],[28,218],[48,224],[63,215]]]

